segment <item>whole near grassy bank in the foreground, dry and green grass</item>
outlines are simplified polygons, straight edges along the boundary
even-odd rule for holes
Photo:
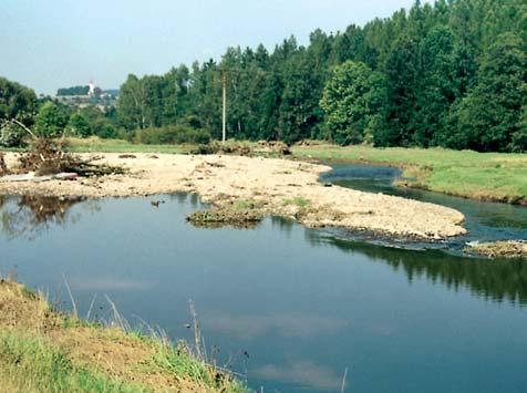
[[[183,344],[86,322],[0,280],[0,385],[10,392],[248,392]]]

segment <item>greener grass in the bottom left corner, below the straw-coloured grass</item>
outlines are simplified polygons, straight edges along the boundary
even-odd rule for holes
[[[75,366],[41,339],[7,331],[0,332],[0,384],[18,392],[147,392]]]

